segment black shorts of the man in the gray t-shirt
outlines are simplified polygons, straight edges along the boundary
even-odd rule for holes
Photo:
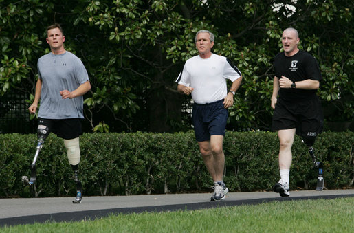
[[[74,139],[82,135],[80,118],[70,119],[45,119],[38,118],[38,125],[45,125],[49,133],[55,133],[58,137],[66,140]]]

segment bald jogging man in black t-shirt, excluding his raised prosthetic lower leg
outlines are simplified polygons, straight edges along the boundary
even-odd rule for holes
[[[311,54],[298,49],[298,31],[292,27],[284,30],[282,43],[284,52],[274,57],[274,86],[272,108],[274,109],[272,129],[278,131],[280,140],[280,177],[274,192],[282,197],[289,196],[289,172],[291,146],[295,133],[309,146],[322,132],[323,115],[316,91],[322,75],[320,67]]]

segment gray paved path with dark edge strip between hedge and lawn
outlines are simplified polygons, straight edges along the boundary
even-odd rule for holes
[[[280,197],[275,192],[229,192],[223,201],[209,201],[209,193],[83,197],[80,204],[72,203],[74,197],[0,199],[0,227],[93,220],[110,214],[199,210],[256,205],[270,201],[354,197],[354,189],[292,191],[290,195],[290,197]]]

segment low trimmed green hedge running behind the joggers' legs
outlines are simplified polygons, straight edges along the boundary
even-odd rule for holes
[[[21,182],[30,176],[36,135],[0,135],[0,196],[30,197]],[[316,156],[324,163],[328,189],[353,188],[354,133],[318,136]],[[225,183],[231,191],[271,190],[278,181],[276,133],[228,132]],[[137,195],[166,192],[210,192],[212,180],[192,132],[86,133],[80,137],[80,179],[84,195]],[[290,188],[314,189],[316,170],[307,147],[296,136]],[[63,140],[51,134],[38,157],[36,196],[74,195],[75,185]]]

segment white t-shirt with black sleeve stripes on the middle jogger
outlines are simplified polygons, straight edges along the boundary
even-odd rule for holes
[[[225,56],[212,54],[210,58],[193,56],[186,61],[179,74],[178,84],[193,87],[192,98],[197,104],[207,104],[225,98],[228,94],[226,79],[234,82],[241,72]]]

